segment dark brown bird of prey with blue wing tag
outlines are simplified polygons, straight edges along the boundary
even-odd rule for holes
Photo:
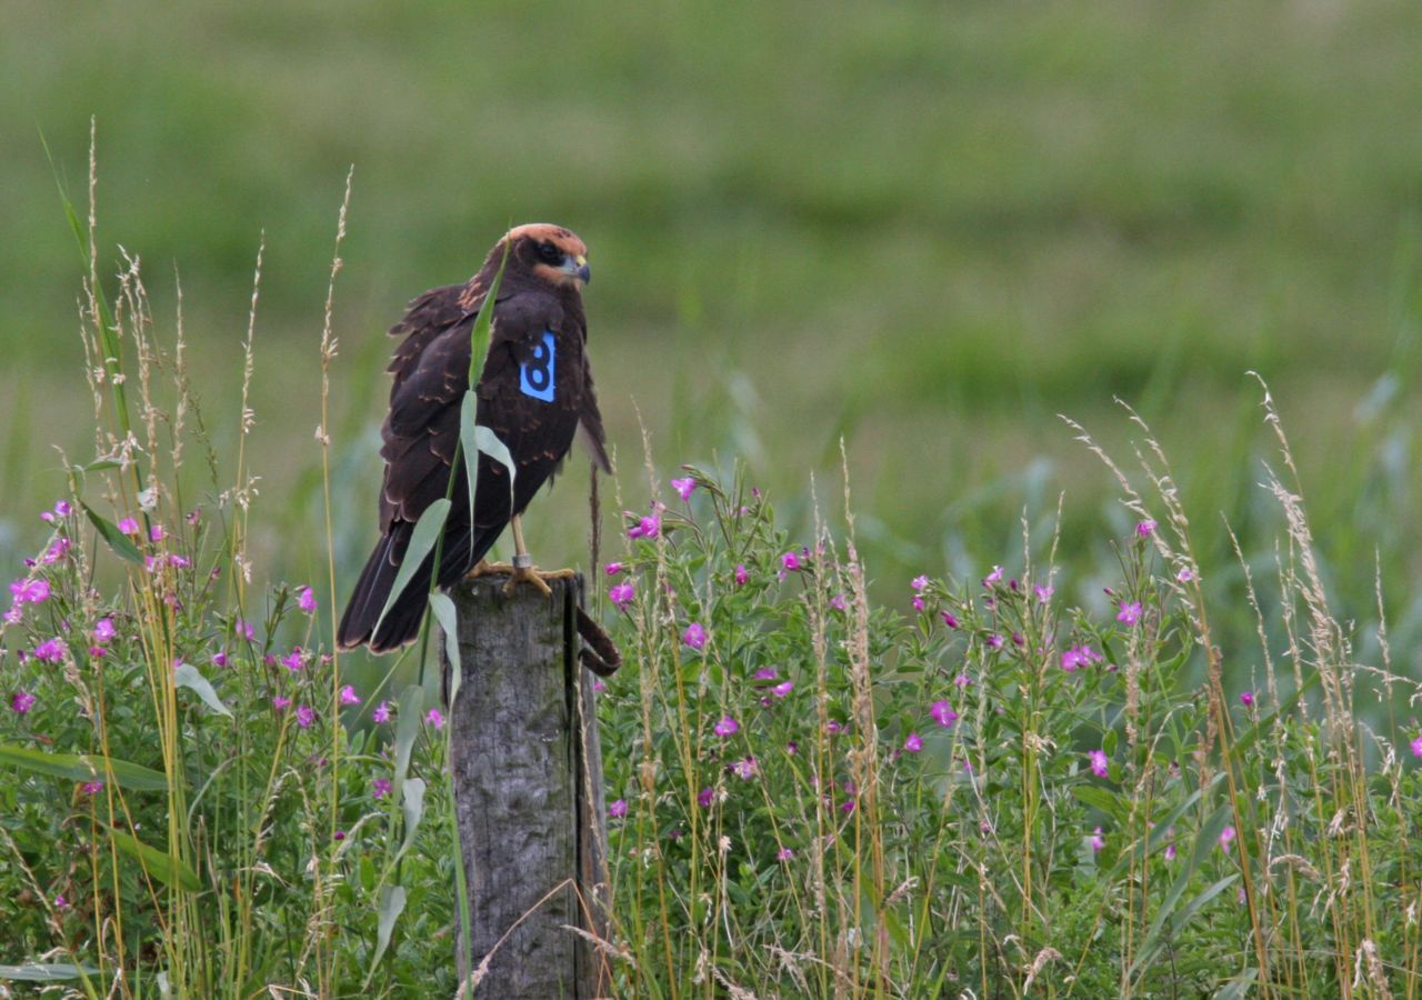
[[[469,334],[479,310],[489,307],[488,290],[501,265],[503,277],[476,387],[476,421],[508,448],[516,475],[510,498],[508,471],[479,454],[469,523],[468,477],[455,451],[459,408],[469,383]],[[381,612],[415,522],[447,495],[452,506],[444,529],[439,586],[455,583],[482,563],[512,522],[510,585],[525,580],[547,590],[532,569],[519,516],[559,469],[574,437],[583,440],[597,468],[610,471],[587,366],[582,289],[590,277],[587,248],[576,235],[562,226],[523,225],[505,233],[466,284],[425,292],[391,327],[391,336],[402,340],[388,368],[394,385],[381,428],[385,478],[380,491],[380,542],[346,605],[337,633],[341,647],[368,644],[383,653],[419,633],[432,552],[384,619]]]

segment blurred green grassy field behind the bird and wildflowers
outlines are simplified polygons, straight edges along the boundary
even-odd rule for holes
[[[166,331],[181,273],[228,457],[264,233],[252,465],[273,576],[323,560],[317,343],[354,164],[333,398],[347,579],[374,531],[384,329],[506,223],[547,219],[592,248],[629,506],[640,414],[664,469],[741,457],[782,506],[812,474],[839,502],[843,437],[862,548],[893,587],[1004,560],[1024,506],[1039,522],[1061,491],[1062,558],[1109,558],[1082,529],[1123,516],[1103,515],[1113,481],[1057,414],[1119,444],[1119,395],[1177,462],[1209,555],[1229,552],[1221,512],[1267,553],[1253,368],[1367,613],[1376,548],[1389,580],[1422,570],[1419,37],[1416,4],[1341,0],[10,0],[0,556],[38,541],[51,445],[91,447],[81,262],[38,137],[82,201],[95,115],[102,267],[119,243],[139,255]],[[583,550],[582,468],[535,515],[545,563]],[[1406,587],[1389,600],[1422,634]]]

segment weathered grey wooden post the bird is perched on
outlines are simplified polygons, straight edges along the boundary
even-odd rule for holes
[[[472,996],[589,1000],[610,986],[603,957],[567,929],[604,936],[607,885],[593,679],[579,663],[583,578],[549,580],[552,597],[526,585],[505,596],[506,580],[449,592],[464,666],[449,765],[469,956],[475,970],[488,957]],[[448,691],[444,642],[439,657]],[[468,979],[462,962],[459,973]]]

